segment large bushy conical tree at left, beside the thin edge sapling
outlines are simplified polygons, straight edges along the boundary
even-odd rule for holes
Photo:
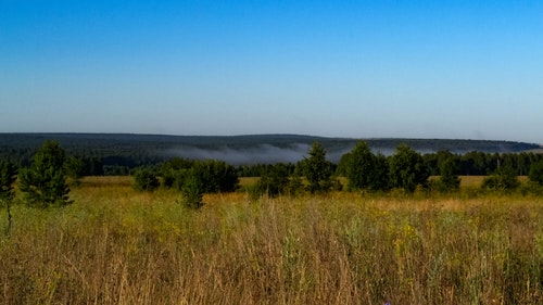
[[[59,142],[47,140],[34,155],[30,167],[21,170],[20,189],[28,205],[45,208],[72,203],[64,160],[64,150]]]

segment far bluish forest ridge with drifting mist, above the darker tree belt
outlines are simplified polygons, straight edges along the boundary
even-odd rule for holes
[[[459,140],[459,139],[394,139],[394,138],[327,138],[303,135],[244,136],[167,136],[137,134],[0,134],[0,157],[26,163],[45,140],[56,140],[68,155],[93,156],[117,163],[156,163],[169,157],[217,158],[232,164],[296,162],[310,145],[318,141],[328,157],[338,162],[357,141],[364,140],[376,152],[390,155],[400,143],[419,153],[447,150],[455,154],[467,152],[515,153],[541,150],[534,143]],[[109,163],[111,163],[109,162]]]

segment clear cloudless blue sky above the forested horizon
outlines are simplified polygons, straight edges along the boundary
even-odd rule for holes
[[[0,131],[543,143],[543,1],[0,0]]]

